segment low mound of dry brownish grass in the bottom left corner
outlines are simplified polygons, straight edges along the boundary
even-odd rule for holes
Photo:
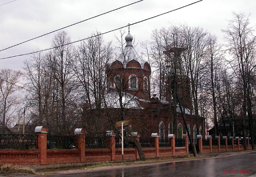
[[[13,166],[10,164],[0,165],[0,175],[12,173],[37,174],[34,170],[28,167]]]

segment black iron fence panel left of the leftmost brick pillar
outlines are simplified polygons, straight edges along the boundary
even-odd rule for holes
[[[0,149],[35,149],[37,142],[37,135],[0,134]]]

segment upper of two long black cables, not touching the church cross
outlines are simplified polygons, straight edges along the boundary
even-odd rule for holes
[[[16,0],[16,1],[17,1],[17,0]],[[136,3],[139,3],[139,2],[141,2],[141,1],[144,1],[144,0],[137,1],[137,2],[134,2],[134,3],[132,3],[132,4],[136,4]],[[13,1],[12,1],[12,2],[13,2]],[[92,19],[92,18],[96,18],[96,17],[99,17],[99,16],[101,16],[101,15],[105,15],[105,14],[107,14],[107,13],[109,13],[109,12],[113,12],[113,11],[116,11],[116,10],[122,9],[122,8],[127,7],[127,6],[129,6],[129,5],[132,5],[132,4],[128,4],[128,5],[125,5],[125,6],[122,6],[122,7],[118,7],[117,9],[114,9],[114,10],[111,10],[111,11],[108,11],[108,12],[104,12],[104,13],[102,13],[102,14],[100,14],[100,15],[96,15],[96,16],[94,16],[94,17],[87,18],[87,19],[82,20],[82,21],[80,21],[80,22],[76,22],[76,23],[74,23],[74,24],[72,24],[72,25],[65,26],[65,27],[63,27],[63,28],[60,28],[60,29],[54,30],[54,31],[52,31],[52,32],[48,32],[48,33],[46,33],[46,34],[43,34],[43,35],[41,35],[41,36],[37,36],[37,37],[32,38],[32,39],[28,39],[28,40],[26,40],[26,41],[24,41],[24,42],[21,42],[21,43],[19,43],[19,44],[15,44],[15,45],[13,45],[13,46],[10,46],[10,47],[7,47],[7,48],[5,48],[5,49],[2,49],[2,50],[0,50],[0,52],[1,52],[1,51],[3,51],[3,50],[6,50],[6,49],[12,48],[12,47],[14,47],[14,46],[18,46],[18,45],[23,44],[23,43],[25,43],[25,42],[28,42],[28,41],[31,41],[31,40],[34,40],[34,39],[40,38],[40,37],[42,37],[42,36],[45,36],[45,35],[51,34],[51,33],[53,33],[53,32],[56,32],[56,31],[59,31],[59,30],[63,30],[64,28],[68,28],[68,27],[70,27],[70,26],[73,26],[73,25],[76,25],[76,24],[82,23],[82,22],[87,21],[87,20],[90,20],[90,19]]]

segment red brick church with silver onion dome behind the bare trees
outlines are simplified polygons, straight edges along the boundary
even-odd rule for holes
[[[172,74],[166,78],[166,100],[159,103],[156,94],[153,94],[153,96],[150,94],[150,65],[148,62],[144,62],[133,48],[133,37],[130,31],[125,36],[125,40],[126,46],[123,51],[107,69],[108,108],[120,109],[122,104],[122,108],[126,111],[126,116],[135,120],[133,122],[136,122],[137,125],[132,123],[131,126],[138,128],[141,137],[148,137],[151,133],[157,132],[160,137],[167,137],[168,134],[173,133],[177,138],[182,138],[182,134],[186,134],[187,131],[184,127],[180,108],[173,99],[171,89],[173,83]],[[175,53],[175,51],[178,52]],[[169,52],[180,55],[182,50],[171,48]],[[191,138],[196,139],[197,128],[199,128],[200,134],[204,137],[204,119],[199,117],[200,126],[196,127],[195,114],[194,112],[190,114],[189,109],[189,79],[183,72],[184,67],[182,64],[180,63],[178,66],[179,68],[176,69],[176,81],[180,87],[177,88],[177,92],[180,95]],[[173,70],[170,72],[173,72]],[[193,117],[192,127],[191,116]]]

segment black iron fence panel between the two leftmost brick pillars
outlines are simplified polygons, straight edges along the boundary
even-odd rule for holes
[[[78,147],[77,136],[47,136],[47,149],[73,149]]]

